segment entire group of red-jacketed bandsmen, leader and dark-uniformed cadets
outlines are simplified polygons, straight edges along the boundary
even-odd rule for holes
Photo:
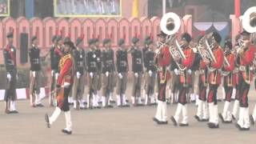
[[[88,40],[88,49],[83,47],[83,35],[76,42],[55,35],[50,48],[50,106],[54,113],[46,114],[50,127],[62,111],[65,113],[66,128],[63,133],[72,134],[70,102],[75,110],[112,108],[115,99],[119,107],[155,105],[153,118],[158,124],[167,124],[168,103],[178,103],[175,114],[170,117],[174,126],[189,126],[188,102],[198,106],[194,118],[208,122],[210,128],[218,128],[218,118],[223,123],[237,120],[239,130],[250,130],[256,121],[256,108],[249,115],[248,93],[256,66],[255,46],[251,34],[244,30],[238,35],[236,45],[225,40],[222,48],[221,36],[217,32],[198,37],[196,45],[190,34],[181,38],[158,34],[157,46],[153,38],[145,39],[145,47],[138,46],[139,38],[132,38],[127,49],[124,39],[118,40],[114,50],[111,39]],[[8,44],[4,49],[7,88],[5,95],[6,114],[18,113],[15,108],[16,50],[12,45],[13,33],[7,34]],[[180,41],[178,41],[180,39]],[[40,94],[41,62],[46,59],[38,49],[37,37],[31,38],[30,56],[30,106],[42,107]],[[129,58],[130,56],[130,58]],[[131,59],[131,62],[128,61]],[[131,70],[129,69],[131,64]],[[132,71],[132,92],[126,97],[128,72]],[[223,87],[225,105],[218,114],[218,87]],[[115,94],[115,95],[114,95]],[[86,97],[84,97],[84,95]],[[234,98],[233,110],[231,99]],[[180,118],[182,116],[182,118]],[[180,121],[181,119],[181,121]]]

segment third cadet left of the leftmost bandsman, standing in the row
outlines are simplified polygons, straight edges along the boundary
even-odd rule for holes
[[[127,72],[129,70],[125,40],[119,39],[119,49],[116,52],[116,67],[118,72],[117,103],[118,106],[129,106],[126,103]]]

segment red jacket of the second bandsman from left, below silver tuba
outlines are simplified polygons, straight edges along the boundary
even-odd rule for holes
[[[186,66],[186,69],[190,69],[194,64],[194,52],[190,47],[182,50],[186,59],[182,60],[182,66]],[[187,73],[187,70],[180,74],[180,82],[182,84],[190,84],[191,83],[191,75]]]

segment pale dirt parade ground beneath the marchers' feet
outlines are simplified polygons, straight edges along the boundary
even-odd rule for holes
[[[129,93],[127,93],[129,94]],[[255,104],[255,91],[250,90],[250,113]],[[46,105],[46,100],[43,103]],[[223,102],[218,103],[222,112]],[[1,102],[3,108],[3,102]],[[206,122],[196,122],[196,106],[189,105],[190,126],[174,127],[169,120],[166,126],[158,126],[153,121],[156,107],[130,107],[104,110],[73,110],[73,134],[62,134],[65,126],[64,114],[49,129],[46,128],[44,114],[52,114],[54,108],[30,108],[29,101],[18,101],[19,114],[6,115],[0,111],[0,144],[115,144],[115,143],[172,143],[172,144],[232,144],[255,143],[255,126],[250,131],[241,132],[233,124],[222,124],[218,130],[210,130]],[[168,117],[174,114],[176,105],[168,106]]]

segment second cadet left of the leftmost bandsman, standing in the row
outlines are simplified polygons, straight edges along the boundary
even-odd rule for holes
[[[142,105],[141,86],[142,86],[142,50],[139,50],[138,38],[132,38],[132,47],[130,50],[132,57],[132,71],[134,72],[134,82],[131,102],[133,105]],[[136,102],[135,102],[136,101]]]

